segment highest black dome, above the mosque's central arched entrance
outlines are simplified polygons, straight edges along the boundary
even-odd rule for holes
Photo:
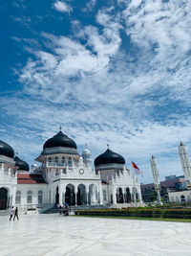
[[[47,140],[43,146],[43,149],[54,147],[66,147],[77,149],[77,146],[71,138],[65,135],[61,130],[53,136],[53,138]]]

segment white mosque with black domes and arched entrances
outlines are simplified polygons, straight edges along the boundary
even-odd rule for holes
[[[131,175],[125,159],[108,149],[91,166],[86,148],[80,155],[73,139],[59,132],[48,139],[40,155],[29,164],[0,140],[0,210],[69,205],[141,203],[138,177]]]

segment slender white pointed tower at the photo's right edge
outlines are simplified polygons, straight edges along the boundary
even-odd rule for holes
[[[189,155],[186,147],[180,142],[179,146],[179,153],[180,153],[180,161],[181,167],[183,170],[183,175],[185,177],[185,182],[189,191],[191,191],[191,167],[189,161]]]

